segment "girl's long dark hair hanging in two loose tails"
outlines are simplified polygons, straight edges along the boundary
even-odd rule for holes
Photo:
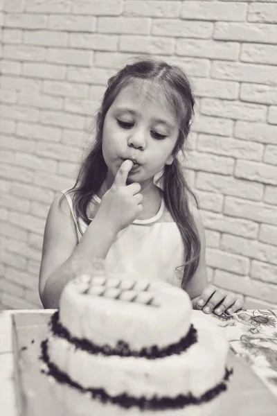
[[[185,155],[184,144],[190,131],[195,105],[190,82],[184,71],[175,65],[153,58],[137,58],[108,80],[107,89],[96,116],[95,140],[80,166],[75,185],[69,190],[73,193],[73,207],[77,221],[78,218],[82,218],[85,223],[90,223],[87,207],[93,194],[100,190],[107,175],[107,165],[102,155],[102,128],[107,111],[120,90],[134,80],[151,80],[161,87],[168,104],[177,114],[179,125],[179,135],[173,155],[176,156],[179,152]],[[201,247],[188,202],[189,196],[193,196],[198,208],[197,198],[186,182],[184,166],[177,157],[171,165],[166,165],[164,168],[163,192],[166,207],[177,223],[184,241],[186,261],[183,266],[180,266],[184,267],[182,279],[184,288],[197,269]],[[78,228],[80,229],[80,223],[78,223]],[[82,232],[81,229],[80,232]]]

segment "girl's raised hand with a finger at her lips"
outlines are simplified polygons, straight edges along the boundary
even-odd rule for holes
[[[115,227],[118,233],[121,229],[131,224],[136,216],[142,211],[141,202],[143,195],[141,185],[132,183],[127,185],[127,177],[132,169],[132,160],[125,160],[118,169],[114,183],[111,188],[102,197],[97,216],[104,218]]]

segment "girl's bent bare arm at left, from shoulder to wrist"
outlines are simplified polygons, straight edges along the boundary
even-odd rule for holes
[[[44,230],[42,263],[39,270],[39,295],[44,308],[57,308],[64,285],[78,270],[89,268],[93,259],[105,259],[116,232],[101,216],[87,227],[78,244],[69,205],[57,195],[48,212]]]

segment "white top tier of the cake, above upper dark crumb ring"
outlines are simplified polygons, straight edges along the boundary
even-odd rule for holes
[[[181,288],[159,280],[80,275],[66,285],[60,322],[72,336],[133,349],[178,343],[190,328],[191,303]]]

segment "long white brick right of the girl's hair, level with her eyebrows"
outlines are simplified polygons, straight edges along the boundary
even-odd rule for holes
[[[267,119],[267,106],[265,105],[215,98],[202,98],[200,111],[207,116],[225,117],[226,119],[247,121],[266,121]]]

